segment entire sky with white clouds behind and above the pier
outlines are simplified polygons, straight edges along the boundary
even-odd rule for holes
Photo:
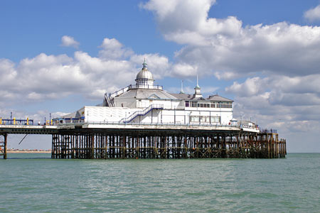
[[[236,119],[320,152],[319,0],[0,1],[0,116],[43,122],[134,83],[233,99]],[[10,135],[9,148],[50,148]]]

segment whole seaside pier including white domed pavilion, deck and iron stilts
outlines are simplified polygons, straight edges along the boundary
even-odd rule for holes
[[[6,158],[8,134],[52,135],[52,158],[284,158],[287,142],[277,131],[233,117],[233,100],[203,97],[198,77],[194,94],[169,93],[154,85],[146,60],[136,84],[105,94],[97,106],[84,106],[45,121],[0,119]],[[11,114],[12,117],[12,114]],[[242,120],[242,119],[241,119]]]

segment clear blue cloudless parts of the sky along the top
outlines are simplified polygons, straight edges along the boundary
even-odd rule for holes
[[[71,35],[80,49],[97,55],[102,39],[117,38],[135,52],[161,53],[173,58],[181,48],[164,40],[150,11],[139,8],[144,1],[1,1],[0,58],[18,62],[39,53],[73,55],[60,47],[60,38]],[[309,24],[304,11],[319,4],[308,1],[218,1],[210,17],[237,16],[244,25],[281,21]]]

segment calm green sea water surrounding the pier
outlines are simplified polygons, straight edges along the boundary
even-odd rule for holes
[[[320,153],[272,160],[8,157],[0,160],[0,212],[320,212]]]

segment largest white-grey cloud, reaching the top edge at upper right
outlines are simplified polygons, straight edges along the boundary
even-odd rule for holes
[[[161,0],[150,0],[142,7],[154,12],[164,38],[185,45],[176,52],[176,60],[197,65],[202,75],[230,80],[256,72],[290,76],[319,72],[317,26],[287,22],[242,26],[233,16],[208,17],[215,1],[170,2],[164,6]]]

